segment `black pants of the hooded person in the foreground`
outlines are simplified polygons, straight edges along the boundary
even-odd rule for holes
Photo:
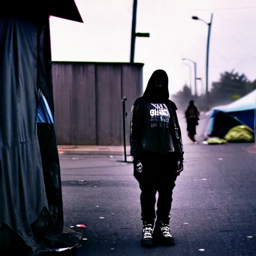
[[[143,222],[169,222],[172,202],[172,190],[177,174],[175,154],[143,151],[133,159],[134,177],[139,182],[141,219]],[[156,192],[158,192],[157,210],[155,214]]]

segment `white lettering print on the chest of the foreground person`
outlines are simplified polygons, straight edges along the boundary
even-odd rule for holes
[[[151,127],[168,127],[170,114],[165,104],[151,103],[149,110]]]

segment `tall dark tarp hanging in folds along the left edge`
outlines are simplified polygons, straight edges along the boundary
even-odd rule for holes
[[[54,116],[49,19],[6,13],[0,12],[0,255],[36,255],[63,230],[55,127],[36,122],[39,90]]]

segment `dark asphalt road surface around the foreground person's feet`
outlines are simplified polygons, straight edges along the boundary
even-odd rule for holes
[[[256,155],[246,150],[251,145],[186,139],[171,209],[176,245],[148,249],[139,243],[140,191],[132,164],[122,156],[60,155],[64,224],[86,225],[77,255],[255,256]]]

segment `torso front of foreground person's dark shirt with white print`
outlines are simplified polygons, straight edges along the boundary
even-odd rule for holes
[[[141,148],[157,151],[174,151],[169,131],[169,110],[163,103],[148,103],[146,107],[145,126],[142,133]]]

